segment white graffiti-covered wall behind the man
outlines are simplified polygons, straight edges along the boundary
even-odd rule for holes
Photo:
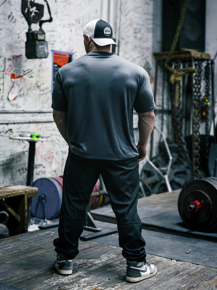
[[[44,5],[42,19],[49,19],[46,3],[36,2]],[[82,0],[79,4],[75,0],[50,0],[49,5],[53,21],[42,26],[49,56],[27,59],[28,25],[21,12],[21,0],[0,0],[0,184],[26,183],[29,143],[10,137],[40,134],[47,138],[36,143],[34,180],[63,174],[68,147],[52,119],[51,51],[73,53],[73,59],[82,56],[82,32],[88,21],[109,21],[119,44],[115,53],[149,70],[153,80],[152,0]],[[32,29],[38,30],[39,25],[32,24]]]

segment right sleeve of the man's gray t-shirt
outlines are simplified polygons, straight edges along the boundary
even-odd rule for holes
[[[134,101],[134,109],[138,113],[146,113],[155,109],[154,95],[151,89],[149,75],[145,70]]]

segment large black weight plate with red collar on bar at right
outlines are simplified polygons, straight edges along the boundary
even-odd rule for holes
[[[201,209],[188,210],[191,202],[198,200]],[[187,183],[178,198],[178,211],[184,224],[192,230],[207,231],[217,227],[217,179],[206,178]]]

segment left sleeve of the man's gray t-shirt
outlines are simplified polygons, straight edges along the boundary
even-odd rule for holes
[[[52,92],[52,105],[51,108],[53,108],[55,111],[68,111],[68,99],[64,93],[64,90],[62,88],[61,84],[61,76],[59,71],[56,74],[53,92]]]

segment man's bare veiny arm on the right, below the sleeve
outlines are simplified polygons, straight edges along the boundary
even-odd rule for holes
[[[137,161],[141,161],[145,159],[147,154],[147,144],[151,132],[154,127],[155,114],[154,110],[146,112],[146,113],[138,113],[138,129],[139,129],[139,142],[136,145],[137,150],[139,152],[139,156],[137,157]]]

